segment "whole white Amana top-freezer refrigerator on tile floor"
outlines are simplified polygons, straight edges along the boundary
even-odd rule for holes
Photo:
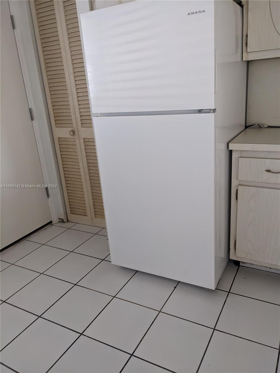
[[[112,263],[215,289],[245,126],[241,7],[131,1],[81,31]]]

